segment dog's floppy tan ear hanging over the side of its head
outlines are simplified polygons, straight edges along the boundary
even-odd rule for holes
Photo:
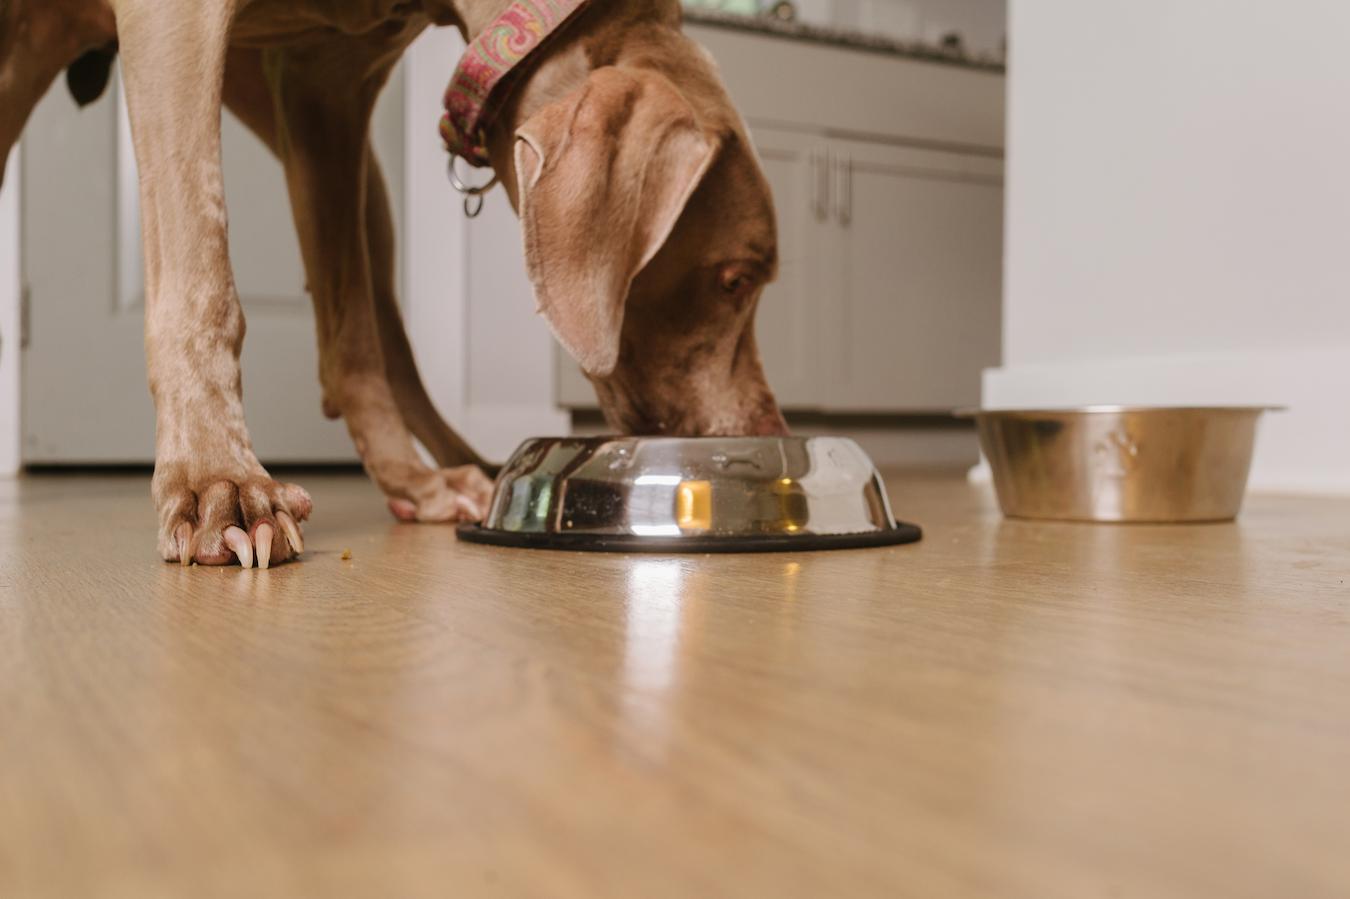
[[[516,132],[539,310],[589,374],[618,363],[624,304],[717,155],[666,77],[608,66]]]

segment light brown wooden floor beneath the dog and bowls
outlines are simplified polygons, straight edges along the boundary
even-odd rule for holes
[[[892,478],[921,545],[679,559],[304,482],[247,572],[155,562],[146,478],[0,482],[0,896],[1350,895],[1347,501]]]

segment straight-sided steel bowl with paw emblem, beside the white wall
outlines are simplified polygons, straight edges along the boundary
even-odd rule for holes
[[[1003,513],[1066,521],[1231,521],[1266,408],[1017,409],[973,417]]]

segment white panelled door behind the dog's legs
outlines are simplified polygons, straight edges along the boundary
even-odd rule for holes
[[[402,190],[402,76],[374,134],[396,207]],[[23,153],[23,265],[30,328],[23,458],[142,463],[154,458],[146,386],[135,159],[113,80],[77,109],[58,82],[34,112]],[[323,418],[313,313],[279,163],[224,116],[235,275],[248,321],[244,410],[265,462],[346,462],[346,428]],[[396,208],[394,221],[401,221]]]

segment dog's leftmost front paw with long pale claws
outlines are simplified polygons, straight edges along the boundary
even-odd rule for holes
[[[286,562],[305,551],[300,522],[313,502],[302,487],[266,474],[201,478],[155,470],[159,555],[166,562],[251,568]]]

